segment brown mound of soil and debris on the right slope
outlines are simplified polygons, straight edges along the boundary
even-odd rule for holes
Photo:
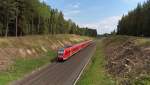
[[[150,73],[150,47],[137,46],[129,39],[118,46],[107,46],[106,68],[121,81],[121,85],[132,85]]]

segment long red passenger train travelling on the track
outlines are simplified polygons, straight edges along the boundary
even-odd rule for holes
[[[66,46],[58,50],[58,61],[65,61],[70,58],[73,54],[79,52],[81,49],[89,46],[92,43],[92,40],[84,41],[73,46]]]

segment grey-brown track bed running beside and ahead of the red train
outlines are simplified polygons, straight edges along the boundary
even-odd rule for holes
[[[72,56],[68,61],[54,62],[13,85],[73,85],[95,51],[95,43]]]

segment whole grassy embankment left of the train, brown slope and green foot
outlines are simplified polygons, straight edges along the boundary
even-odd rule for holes
[[[67,34],[1,38],[0,69],[4,67],[7,70],[0,70],[0,85],[8,85],[51,63],[51,60],[56,57],[57,48],[86,39],[88,37]],[[9,66],[3,62],[9,63]]]

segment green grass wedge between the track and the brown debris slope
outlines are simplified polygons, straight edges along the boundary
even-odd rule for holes
[[[102,42],[98,40],[96,52],[77,85],[115,85],[115,81],[106,73],[103,50]]]

